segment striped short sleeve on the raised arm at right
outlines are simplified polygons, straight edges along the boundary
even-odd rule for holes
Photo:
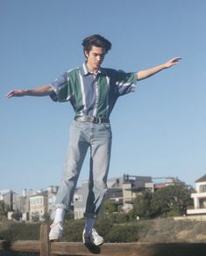
[[[116,85],[119,96],[123,96],[131,91],[135,91],[137,84],[136,73],[125,73],[122,70],[117,70]]]

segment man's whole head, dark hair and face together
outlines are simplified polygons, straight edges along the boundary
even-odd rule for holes
[[[84,55],[88,59],[89,68],[94,71],[103,62],[104,55],[110,50],[111,43],[99,34],[91,35],[82,41]]]

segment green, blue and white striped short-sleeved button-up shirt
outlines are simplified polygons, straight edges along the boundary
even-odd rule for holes
[[[86,63],[69,70],[52,83],[53,101],[70,101],[76,116],[109,118],[118,97],[135,91],[135,73],[100,68],[92,74]]]

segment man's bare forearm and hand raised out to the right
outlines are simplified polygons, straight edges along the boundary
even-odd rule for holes
[[[176,65],[180,60],[181,60],[181,57],[175,57],[175,58],[169,60],[168,62],[165,62],[165,63],[163,63],[159,66],[155,66],[151,69],[141,70],[137,73],[137,80],[142,80],[142,79],[145,79],[147,77],[151,77],[151,76],[157,74],[158,72],[160,72],[163,69],[171,68],[174,65]]]

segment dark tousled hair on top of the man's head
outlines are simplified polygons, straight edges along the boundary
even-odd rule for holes
[[[97,48],[104,48],[105,53],[107,53],[111,48],[111,43],[109,40],[106,40],[100,34],[93,34],[89,37],[86,37],[82,41],[83,50],[89,52],[93,46]]]

